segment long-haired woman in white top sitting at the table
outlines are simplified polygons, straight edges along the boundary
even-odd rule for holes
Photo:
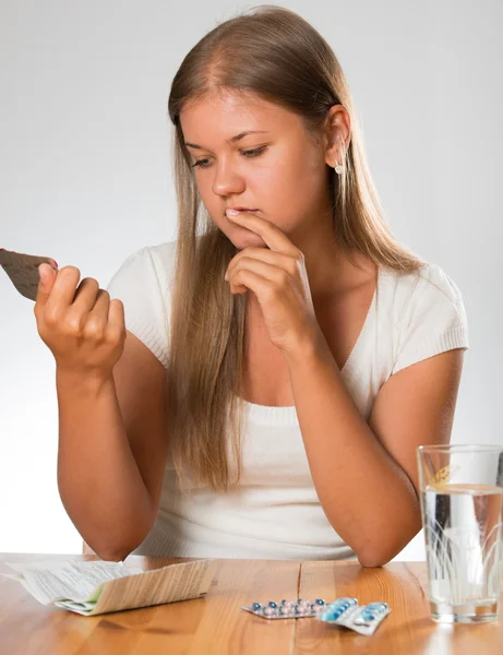
[[[391,235],[343,71],[294,12],[207,34],[169,116],[178,240],[108,293],[40,267],[64,507],[109,560],[382,565],[420,529],[416,448],[450,440],[459,291]]]

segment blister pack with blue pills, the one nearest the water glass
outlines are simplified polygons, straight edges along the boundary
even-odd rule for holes
[[[387,603],[358,605],[356,598],[337,598],[326,605],[316,618],[324,623],[344,626],[360,634],[370,635],[390,612]]]

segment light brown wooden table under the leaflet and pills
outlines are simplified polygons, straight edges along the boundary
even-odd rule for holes
[[[4,562],[96,559],[93,556],[0,555]],[[189,560],[131,556],[125,563],[155,569]],[[424,562],[362,569],[355,562],[217,560],[205,598],[82,617],[45,607],[13,580],[0,576],[1,655],[495,655],[503,622],[439,624],[430,619]],[[385,600],[392,612],[372,636],[312,618],[270,621],[240,609],[253,600],[356,596]]]

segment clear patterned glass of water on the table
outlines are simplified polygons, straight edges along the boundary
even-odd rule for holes
[[[431,616],[448,623],[496,619],[503,446],[420,445],[417,452]]]

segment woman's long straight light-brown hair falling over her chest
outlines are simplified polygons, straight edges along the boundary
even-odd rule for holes
[[[219,90],[251,93],[295,111],[314,136],[330,108],[343,105],[351,119],[351,140],[343,174],[331,168],[330,177],[338,243],[399,272],[416,271],[422,262],[386,225],[343,70],[314,27],[290,10],[261,5],[219,24],[190,50],[168,102],[179,207],[168,430],[182,488],[189,473],[195,484],[225,491],[241,474],[247,295],[231,295],[224,281],[238,250],[202,204],[179,120],[189,100]]]

